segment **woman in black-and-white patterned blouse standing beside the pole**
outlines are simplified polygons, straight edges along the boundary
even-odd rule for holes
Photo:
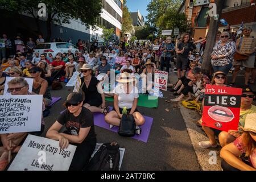
[[[214,73],[222,71],[228,74],[229,69],[232,68],[236,44],[233,41],[228,41],[230,38],[229,32],[222,32],[220,38],[221,41],[213,47],[210,63]]]

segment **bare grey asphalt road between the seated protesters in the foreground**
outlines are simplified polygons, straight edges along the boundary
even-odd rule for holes
[[[51,113],[45,118],[43,137],[60,111],[65,109],[63,103],[72,90],[73,87],[51,90],[53,97],[59,96],[62,100],[51,107]],[[171,96],[171,92],[164,92],[164,97],[166,98],[159,98],[157,109],[138,107],[143,115],[154,118],[147,143],[120,137],[117,133],[96,126],[98,143],[117,142],[120,147],[125,148],[121,170],[200,170],[180,110],[176,108],[176,104],[165,102],[174,96]],[[112,102],[106,104],[113,106]],[[167,108],[170,111],[167,112]]]

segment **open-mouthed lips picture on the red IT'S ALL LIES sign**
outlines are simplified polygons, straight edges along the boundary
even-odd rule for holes
[[[234,114],[228,107],[212,106],[208,110],[209,116],[215,121],[230,122],[234,119]]]

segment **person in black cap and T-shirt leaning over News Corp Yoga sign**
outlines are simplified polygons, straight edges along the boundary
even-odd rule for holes
[[[75,145],[76,152],[69,170],[85,170],[97,143],[93,114],[82,106],[82,94],[78,92],[70,93],[64,105],[67,110],[53,123],[46,137],[59,140],[60,148],[63,150],[68,148],[69,143]],[[60,133],[63,125],[67,130]]]

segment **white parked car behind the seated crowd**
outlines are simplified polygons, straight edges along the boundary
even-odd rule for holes
[[[40,43],[36,45],[34,48],[34,53],[35,55],[36,52],[39,53],[52,53],[52,56],[55,57],[58,52],[61,53],[68,53],[68,50],[71,50],[71,52],[75,55],[76,51],[79,51],[77,47],[74,44],[68,43],[68,42],[49,42],[49,43]]]

